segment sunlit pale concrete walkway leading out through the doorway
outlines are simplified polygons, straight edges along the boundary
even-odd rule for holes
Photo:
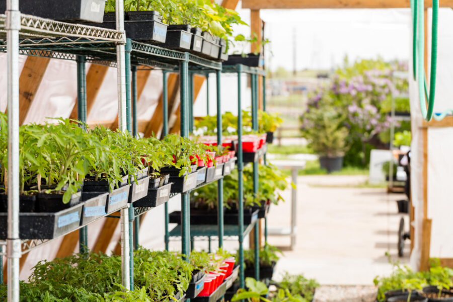
[[[268,238],[270,244],[285,249],[276,280],[288,271],[304,273],[323,285],[372,285],[376,275],[390,274],[392,265],[385,253],[397,259],[401,217],[395,200],[405,195],[387,194],[384,188],[353,187],[364,181],[365,176],[298,177],[296,246],[289,251],[285,248],[289,237]],[[270,227],[289,225],[289,192],[284,196],[285,203],[271,208]],[[408,216],[404,217],[408,229]]]

